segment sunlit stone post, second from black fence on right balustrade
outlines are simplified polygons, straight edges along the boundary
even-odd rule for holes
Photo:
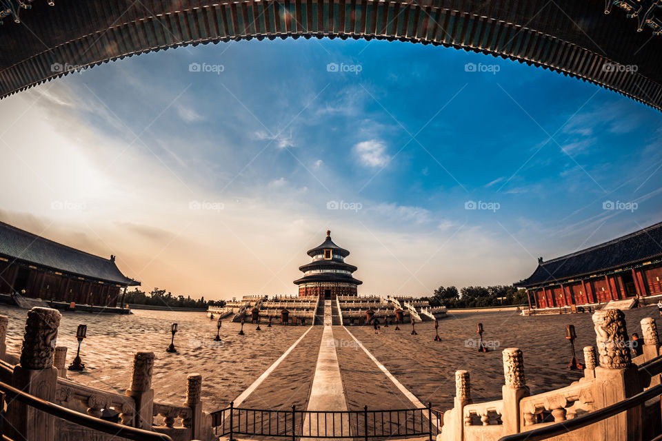
[[[501,387],[503,395],[503,435],[519,433],[520,410],[519,401],[530,395],[524,378],[524,355],[520,349],[509,347],[503,349],[503,377],[505,384]]]

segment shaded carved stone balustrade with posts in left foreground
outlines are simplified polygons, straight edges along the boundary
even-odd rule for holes
[[[131,384],[123,395],[68,380],[66,347],[55,345],[60,317],[55,309],[30,309],[19,363],[12,365],[7,360],[10,357],[3,345],[8,319],[0,316],[0,378],[3,382],[42,400],[95,418],[101,418],[107,411],[114,411],[111,413],[117,415],[120,424],[164,433],[173,440],[214,440],[210,416],[202,410],[202,376],[199,374],[188,376],[186,401],[183,404],[154,402],[152,352],[137,352],[134,355]],[[6,419],[6,434],[12,439],[110,439],[92,429],[46,413],[37,413],[33,407],[17,400],[8,403]]]

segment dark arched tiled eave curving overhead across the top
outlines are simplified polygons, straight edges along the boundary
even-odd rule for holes
[[[527,63],[662,110],[662,37],[603,0],[35,0],[0,26],[0,97],[134,54],[231,40],[379,39]],[[61,66],[61,70],[57,67]],[[617,66],[614,70],[605,66]],[[621,70],[618,66],[636,66]]]

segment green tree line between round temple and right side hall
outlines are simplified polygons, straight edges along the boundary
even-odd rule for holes
[[[448,308],[480,308],[490,306],[510,306],[528,304],[525,289],[517,289],[512,285],[495,285],[493,287],[439,287],[434,290],[428,300],[430,306],[445,306]]]

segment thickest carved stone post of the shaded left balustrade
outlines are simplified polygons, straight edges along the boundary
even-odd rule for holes
[[[28,311],[23,334],[20,363],[14,367],[12,385],[43,400],[54,402],[57,388],[57,369],[53,367],[53,353],[61,315],[56,309],[34,307]],[[8,435],[30,441],[52,441],[55,420],[48,413],[12,400],[8,407],[12,424]]]

